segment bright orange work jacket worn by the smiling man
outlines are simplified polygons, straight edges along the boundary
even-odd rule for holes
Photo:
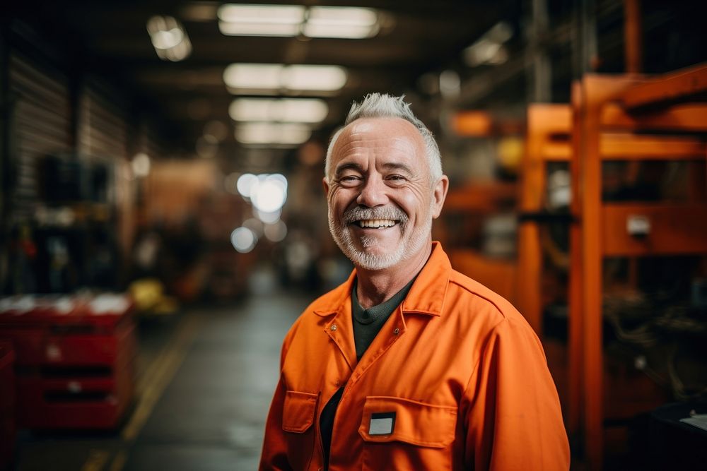
[[[542,346],[505,299],[452,270],[440,244],[356,362],[351,287],[286,335],[261,470],[320,470],[319,417],[336,391],[329,470],[567,470]]]

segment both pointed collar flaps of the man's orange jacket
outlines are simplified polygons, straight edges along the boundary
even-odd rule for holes
[[[441,316],[451,271],[452,265],[442,249],[442,244],[433,242],[430,258],[420,270],[410,292],[402,302],[403,314],[417,313]],[[336,314],[341,305],[351,297],[351,287],[353,287],[355,279],[356,270],[351,272],[346,282],[320,299],[320,302],[317,303],[320,307],[315,309],[315,314],[322,317]]]

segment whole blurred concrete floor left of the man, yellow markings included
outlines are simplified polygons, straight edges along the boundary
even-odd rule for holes
[[[18,471],[255,470],[281,340],[312,296],[281,292],[141,325],[139,400],[110,433],[18,434]]]

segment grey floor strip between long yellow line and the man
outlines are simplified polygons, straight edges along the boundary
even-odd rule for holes
[[[199,333],[124,469],[255,470],[281,340],[307,302],[277,295],[197,313]]]

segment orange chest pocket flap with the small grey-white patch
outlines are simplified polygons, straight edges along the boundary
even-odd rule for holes
[[[454,441],[456,426],[456,407],[368,396],[363,405],[363,419],[358,434],[365,441],[402,441],[418,446],[445,448]]]

